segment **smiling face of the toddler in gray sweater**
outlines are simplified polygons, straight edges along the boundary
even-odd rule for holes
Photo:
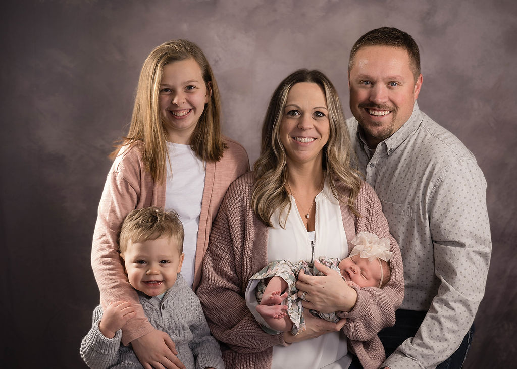
[[[129,283],[147,296],[158,296],[174,285],[184,254],[169,237],[134,242],[124,255]]]

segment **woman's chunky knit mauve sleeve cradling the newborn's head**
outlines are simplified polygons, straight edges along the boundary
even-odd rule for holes
[[[371,232],[379,238],[390,239],[390,251],[393,258],[390,261],[391,278],[383,288],[356,288],[357,303],[349,313],[343,328],[351,340],[368,341],[381,329],[395,324],[395,310],[404,299],[404,275],[402,257],[397,241],[390,235],[388,221],[382,211],[381,202],[369,184],[362,184],[356,201],[356,209],[360,217],[354,216],[356,234],[361,231]],[[349,248],[353,248],[349,244]]]

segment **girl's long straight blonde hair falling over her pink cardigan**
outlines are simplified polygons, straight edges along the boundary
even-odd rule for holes
[[[190,138],[190,147],[203,161],[218,161],[226,149],[221,135],[221,97],[214,73],[201,49],[187,40],[171,40],[155,48],[144,61],[136,97],[131,126],[121,144],[111,153],[115,158],[120,148],[135,141],[143,141],[143,159],[146,169],[158,182],[166,178],[168,152],[167,131],[159,107],[159,91],[163,67],[174,61],[194,59],[201,68],[210,99]]]

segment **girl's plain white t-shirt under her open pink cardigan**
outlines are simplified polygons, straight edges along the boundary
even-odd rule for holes
[[[183,224],[185,259],[181,266],[181,275],[192,286],[206,166],[195,156],[190,145],[168,142],[167,149],[170,160],[167,162],[165,209],[176,211]]]

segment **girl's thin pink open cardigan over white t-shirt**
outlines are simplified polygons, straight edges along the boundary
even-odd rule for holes
[[[197,250],[195,255],[194,289],[201,280],[201,265],[208,246],[212,222],[230,184],[249,170],[244,147],[225,139],[227,149],[218,162],[206,163],[205,188],[201,202]],[[128,300],[139,307],[138,315],[122,329],[122,342],[138,339],[154,328],[139,303],[136,291],[128,282],[118,253],[118,233],[127,214],[148,206],[165,206],[165,185],[155,182],[142,160],[142,142],[123,148],[115,159],[100,199],[92,246],[92,267],[99,285],[100,302],[105,308],[110,301]],[[124,151],[125,150],[125,151]]]

